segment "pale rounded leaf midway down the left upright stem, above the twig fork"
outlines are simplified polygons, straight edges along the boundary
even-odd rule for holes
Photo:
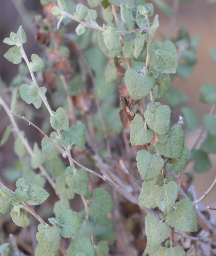
[[[58,108],[53,116],[50,117],[50,124],[55,130],[68,130],[69,121],[66,111]]]

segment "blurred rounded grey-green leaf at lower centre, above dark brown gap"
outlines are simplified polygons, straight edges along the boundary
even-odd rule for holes
[[[114,204],[110,194],[102,188],[96,188],[89,206],[89,214],[96,217],[104,216],[111,212],[113,208]]]

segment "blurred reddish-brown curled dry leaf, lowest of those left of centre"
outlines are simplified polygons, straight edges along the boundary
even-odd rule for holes
[[[82,114],[94,114],[96,112],[95,97],[89,92],[78,93],[74,97],[74,103]]]

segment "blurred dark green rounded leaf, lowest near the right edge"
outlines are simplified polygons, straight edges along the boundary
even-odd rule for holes
[[[195,161],[193,168],[197,173],[207,172],[211,168],[207,153],[201,149],[192,152],[192,160]]]

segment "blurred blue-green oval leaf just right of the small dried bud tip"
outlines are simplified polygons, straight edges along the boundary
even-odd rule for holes
[[[182,108],[182,113],[185,121],[186,128],[189,132],[194,132],[200,125],[200,118],[190,108]]]

